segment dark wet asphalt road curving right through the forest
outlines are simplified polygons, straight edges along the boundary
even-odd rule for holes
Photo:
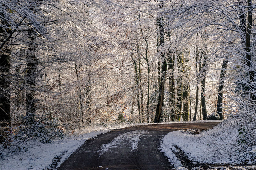
[[[59,170],[172,169],[167,157],[159,150],[164,135],[175,130],[209,129],[217,124],[152,124],[115,129],[87,140]]]

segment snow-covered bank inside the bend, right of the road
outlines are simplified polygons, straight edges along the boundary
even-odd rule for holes
[[[178,146],[195,163],[256,164],[256,160],[252,159],[256,146],[250,152],[237,151],[238,129],[236,121],[229,119],[199,134],[193,130],[173,131],[164,136],[160,149],[171,160],[175,156],[173,152],[177,151],[174,146]],[[180,167],[179,162],[173,165]]]

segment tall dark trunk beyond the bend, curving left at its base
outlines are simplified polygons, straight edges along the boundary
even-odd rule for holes
[[[162,9],[163,7],[164,7],[164,4],[161,2],[159,4],[159,9]],[[158,29],[159,29],[159,39],[160,39],[159,46],[162,47],[164,45],[164,27],[163,27],[164,18],[163,16],[160,16],[157,20],[158,20]],[[158,103],[156,106],[156,115],[155,115],[154,123],[160,122],[160,118],[162,115],[162,107],[164,103],[164,84],[165,84],[165,76],[167,71],[167,61],[165,58],[164,51],[161,52],[161,63],[162,63],[162,69],[161,69],[161,78],[160,78],[160,88],[159,88]]]

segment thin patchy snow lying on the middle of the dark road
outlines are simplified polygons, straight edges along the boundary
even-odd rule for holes
[[[118,145],[123,145],[135,150],[137,149],[139,138],[145,134],[148,134],[148,131],[136,130],[121,134],[109,143],[101,146],[101,149],[98,151],[100,152],[99,155],[106,153],[109,149],[116,148]]]

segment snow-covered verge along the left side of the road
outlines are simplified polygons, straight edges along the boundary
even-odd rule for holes
[[[84,129],[82,132],[76,130],[73,135],[52,143],[23,142],[20,146],[23,152],[9,153],[4,159],[0,159],[0,170],[56,169],[86,140],[113,129],[133,125],[138,124],[108,125]]]

